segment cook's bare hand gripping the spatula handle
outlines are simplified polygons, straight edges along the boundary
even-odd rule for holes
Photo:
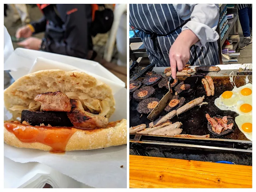
[[[172,78],[176,78],[177,68],[181,72],[190,59],[190,47],[198,42],[198,37],[191,30],[182,31],[172,44],[169,52]]]

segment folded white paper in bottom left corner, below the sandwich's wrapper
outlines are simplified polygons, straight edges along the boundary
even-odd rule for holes
[[[4,188],[90,188],[41,163],[14,162],[4,157]]]

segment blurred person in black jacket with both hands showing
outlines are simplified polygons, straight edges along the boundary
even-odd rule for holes
[[[95,36],[96,32],[92,30],[92,22],[94,18],[103,17],[104,20],[102,24],[97,25],[97,30],[104,30],[105,27],[112,26],[113,20],[109,19],[110,17],[93,14],[95,7],[92,4],[38,4],[38,8],[43,13],[41,20],[17,30],[16,38],[26,38],[18,44],[19,46],[106,64],[93,50],[92,36]],[[106,12],[104,13],[109,13],[108,10]],[[45,32],[43,39],[31,37],[32,34],[40,32]]]

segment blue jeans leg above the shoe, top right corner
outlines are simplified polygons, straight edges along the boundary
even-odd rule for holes
[[[238,16],[244,37],[250,37],[250,28],[252,28],[252,8],[245,7],[238,10]]]

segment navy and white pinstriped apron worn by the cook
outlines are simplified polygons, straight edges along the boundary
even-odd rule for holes
[[[140,30],[146,52],[155,66],[170,66],[169,50],[181,32],[182,20],[172,4],[130,4],[130,24]],[[158,34],[155,48],[152,33]],[[219,64],[217,42],[208,42],[205,46],[193,45],[190,48],[190,65]]]

